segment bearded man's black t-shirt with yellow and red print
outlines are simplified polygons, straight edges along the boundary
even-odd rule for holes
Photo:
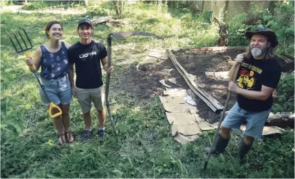
[[[237,77],[239,87],[252,91],[261,91],[262,85],[276,88],[281,78],[281,67],[276,60],[243,59]],[[266,101],[258,101],[237,95],[239,107],[250,112],[263,112],[272,107],[272,95]]]

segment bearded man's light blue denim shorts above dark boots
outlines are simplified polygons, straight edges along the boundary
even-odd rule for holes
[[[253,138],[261,138],[264,124],[269,115],[270,109],[264,112],[248,112],[235,103],[222,121],[221,126],[240,129],[241,125],[246,122],[244,134]]]

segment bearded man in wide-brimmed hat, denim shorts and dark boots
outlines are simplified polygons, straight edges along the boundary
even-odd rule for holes
[[[237,55],[228,74],[228,90],[237,94],[237,103],[221,123],[220,134],[212,151],[212,154],[223,152],[230,139],[230,130],[239,129],[246,121],[245,135],[239,149],[241,160],[254,139],[261,138],[272,107],[272,92],[281,78],[281,67],[274,60],[274,48],[278,45],[276,34],[260,26],[252,32],[246,31],[245,36],[250,39],[250,45],[245,53]],[[237,79],[233,79],[239,63],[241,66]],[[205,147],[205,151],[209,149]]]

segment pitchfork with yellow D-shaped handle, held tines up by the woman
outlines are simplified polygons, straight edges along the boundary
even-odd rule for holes
[[[7,32],[7,30],[6,30],[6,32]],[[25,29],[23,28],[23,33],[25,34],[25,39],[27,40],[27,43],[30,43],[30,45],[28,47],[28,45],[27,45],[27,43],[25,43],[25,39],[23,38],[23,35],[21,35],[21,32],[19,31],[19,29],[17,29],[17,32],[18,32],[19,36],[21,37],[21,41],[25,45],[25,48],[23,48],[23,46],[21,45],[19,39],[17,38],[17,35],[14,34],[13,31],[12,31],[12,34],[14,36],[14,39],[15,39],[15,41],[17,41],[17,45],[19,45],[19,48],[21,50],[18,50],[16,43],[14,43],[14,41],[12,41],[11,36],[7,32],[8,37],[9,37],[9,39],[10,39],[10,41],[11,41],[11,43],[12,43],[14,49],[15,49],[15,51],[17,51],[18,54],[21,54],[22,52],[25,52],[25,56],[29,59],[31,56],[30,56],[30,53],[27,52],[27,51],[30,50],[30,49],[32,49],[32,47],[33,47],[32,43],[30,41],[30,38],[29,38],[27,32],[25,32]],[[30,69],[31,72],[33,72],[35,74],[35,76],[36,76],[36,78],[37,78],[37,80],[39,82],[39,85],[43,89],[43,92],[44,92],[47,100],[50,101],[50,98],[49,98],[49,96],[48,96],[48,94],[47,94],[47,92],[45,90],[45,87],[44,87],[44,85],[43,85],[43,83],[41,81],[40,75],[37,72],[35,65],[30,65],[29,66],[29,69]],[[52,110],[53,109],[58,109],[58,113],[52,115]],[[54,105],[54,103],[52,101],[50,101],[50,108],[48,109],[48,112],[49,112],[51,118],[56,118],[57,116],[61,116],[61,114],[63,114],[63,112],[61,111],[61,108],[59,108],[57,105]]]

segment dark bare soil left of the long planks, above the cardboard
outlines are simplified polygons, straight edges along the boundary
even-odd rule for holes
[[[158,59],[154,63],[145,63],[138,69],[136,69],[136,65],[131,65],[129,72],[118,75],[119,83],[124,84],[122,89],[129,92],[133,98],[146,100],[153,96],[162,95],[165,87],[159,82],[160,80],[164,79],[171,87],[177,87],[168,79],[181,77],[170,59]],[[184,89],[187,88],[183,78],[179,78],[178,81],[184,86]]]

